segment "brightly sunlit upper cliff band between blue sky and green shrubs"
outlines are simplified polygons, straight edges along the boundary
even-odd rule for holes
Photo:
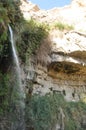
[[[30,1],[21,0],[20,9],[24,18],[29,20],[34,18],[40,22],[47,22],[48,24],[61,21],[69,25],[74,25],[76,30],[85,31],[86,26],[86,1],[73,0],[70,5],[58,8],[55,7],[50,10],[42,10]]]

